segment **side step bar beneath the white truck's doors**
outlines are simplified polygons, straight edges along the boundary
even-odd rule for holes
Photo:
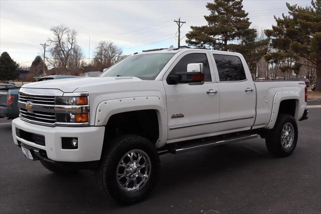
[[[257,138],[257,136],[258,136],[257,134],[242,135],[242,136],[238,136],[238,137],[234,137],[234,138],[229,138],[226,140],[210,141],[205,144],[194,144],[194,145],[190,145],[188,147],[185,146],[185,147],[170,148],[168,150],[168,152],[172,153],[172,154],[179,154],[179,153],[183,153],[183,152],[189,152],[192,150],[203,149],[203,148],[208,148],[208,147],[212,147],[212,146],[218,146],[218,145],[222,145],[222,144],[226,144],[226,143],[233,143],[233,142],[237,142],[237,141],[243,141],[243,140],[248,140],[248,139],[252,139],[252,138]]]

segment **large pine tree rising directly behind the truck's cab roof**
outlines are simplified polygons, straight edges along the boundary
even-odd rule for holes
[[[208,25],[191,26],[186,43],[197,48],[240,52],[254,72],[256,63],[266,53],[267,40],[256,41],[256,30],[250,28],[242,2],[214,0],[214,3],[207,3],[206,8],[211,13],[204,18]]]

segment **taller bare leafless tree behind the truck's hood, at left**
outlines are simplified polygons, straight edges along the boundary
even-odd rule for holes
[[[71,74],[80,69],[83,63],[83,53],[77,45],[75,30],[64,25],[51,28],[53,33],[50,42],[50,57],[46,57],[51,66],[56,68],[57,74]]]

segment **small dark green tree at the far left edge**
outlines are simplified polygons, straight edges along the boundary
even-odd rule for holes
[[[3,52],[0,56],[0,80],[16,79],[19,76],[17,68],[19,64],[7,52]]]

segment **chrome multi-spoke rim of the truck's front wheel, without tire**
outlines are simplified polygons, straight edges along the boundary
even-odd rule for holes
[[[131,150],[118,163],[117,183],[125,191],[137,191],[147,183],[150,170],[149,156],[140,149]]]

